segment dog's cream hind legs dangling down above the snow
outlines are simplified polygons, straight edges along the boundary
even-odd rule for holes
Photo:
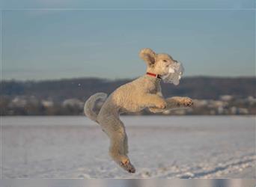
[[[135,173],[135,168],[127,156],[127,134],[124,123],[115,115],[99,117],[100,125],[110,138],[109,156],[129,173]]]

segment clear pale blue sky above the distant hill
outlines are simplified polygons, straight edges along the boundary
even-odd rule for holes
[[[144,47],[182,61],[186,76],[255,75],[253,1],[197,1],[185,7],[186,1],[164,1],[165,6],[150,3],[143,10],[134,9],[135,1],[87,1],[86,9],[81,1],[62,2],[4,1],[3,79],[134,78],[145,73],[138,58]],[[143,1],[137,5],[142,8]]]

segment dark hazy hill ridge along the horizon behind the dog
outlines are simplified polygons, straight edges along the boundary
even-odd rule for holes
[[[97,92],[112,93],[116,88],[131,80],[81,78],[39,82],[2,81],[0,95],[36,96],[38,99],[52,99],[55,102],[62,102],[69,98],[85,100]],[[178,86],[162,83],[162,93],[165,97],[189,96],[194,99],[218,99],[221,95],[256,96],[255,83],[255,77],[186,77],[181,79]]]

